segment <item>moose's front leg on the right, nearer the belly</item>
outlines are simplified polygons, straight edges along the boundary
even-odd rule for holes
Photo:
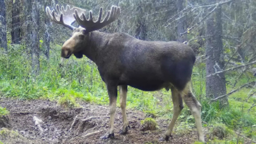
[[[129,122],[126,116],[126,97],[127,97],[127,85],[120,86],[120,107],[122,109],[122,116],[123,116],[123,127],[120,134],[127,134],[129,128]]]

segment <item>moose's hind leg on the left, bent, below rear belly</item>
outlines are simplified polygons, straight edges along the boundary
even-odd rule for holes
[[[179,91],[174,87],[172,87],[171,90],[172,90],[172,102],[173,102],[173,117],[170,124],[168,125],[168,129],[165,132],[163,138],[159,139],[160,141],[164,141],[164,140],[168,141],[169,138],[172,137],[172,130],[175,125],[175,122],[178,116],[180,115],[180,111],[184,108],[182,97],[180,96]]]

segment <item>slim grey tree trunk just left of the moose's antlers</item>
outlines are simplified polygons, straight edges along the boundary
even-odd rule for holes
[[[50,5],[50,3],[47,3],[47,1],[49,1],[49,0],[45,0],[44,10],[45,10],[46,6]],[[51,35],[49,33],[50,25],[51,25],[50,19],[47,17],[47,15],[44,15],[43,47],[44,47],[44,54],[45,54],[47,60],[49,60],[49,54],[50,54],[50,42],[51,42]]]

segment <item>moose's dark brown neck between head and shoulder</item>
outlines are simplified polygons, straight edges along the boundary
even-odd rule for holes
[[[97,62],[97,57],[99,56],[99,52],[106,48],[106,44],[108,44],[108,35],[109,33],[102,33],[100,31],[92,31],[90,32],[90,40],[88,40],[88,45],[86,45],[84,49],[84,55],[92,60],[94,63]]]

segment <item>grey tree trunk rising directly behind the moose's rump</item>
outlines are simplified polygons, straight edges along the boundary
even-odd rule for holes
[[[183,10],[183,0],[177,0],[176,6],[178,9],[178,13],[180,11],[182,11]],[[185,17],[185,15],[182,15],[180,17],[180,19],[178,20],[178,24],[177,24],[177,34],[178,34],[177,41],[178,42],[185,42],[188,40],[187,34],[180,35],[181,33],[185,32],[185,30],[184,30],[185,26],[186,26],[186,17]]]

